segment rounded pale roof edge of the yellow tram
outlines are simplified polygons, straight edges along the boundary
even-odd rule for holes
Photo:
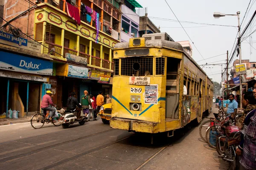
[[[183,52],[205,75],[207,75],[204,72],[204,70],[197,64],[197,62],[195,62],[195,60],[184,50],[184,48],[180,45],[180,43],[172,42],[168,40],[145,40],[145,47],[143,48],[151,48],[151,47],[169,48],[175,51]],[[129,42],[119,42],[114,46],[114,50],[125,49],[125,48],[130,48]],[[134,48],[138,48],[138,47],[134,47]],[[209,77],[208,79],[212,82],[212,80]]]

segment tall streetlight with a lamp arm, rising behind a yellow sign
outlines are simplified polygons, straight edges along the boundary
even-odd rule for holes
[[[237,16],[238,17],[238,45],[239,45],[239,64],[242,64],[242,58],[241,58],[241,42],[240,42],[240,11],[236,12],[236,14],[221,14],[220,12],[214,12],[213,13],[213,17],[214,18],[220,18],[220,17],[225,17],[227,15],[231,15],[231,16]],[[242,75],[239,75],[239,79],[240,79],[240,107],[242,106]]]

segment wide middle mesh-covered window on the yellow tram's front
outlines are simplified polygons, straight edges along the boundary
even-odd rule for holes
[[[153,57],[128,57],[121,59],[122,76],[153,75]]]

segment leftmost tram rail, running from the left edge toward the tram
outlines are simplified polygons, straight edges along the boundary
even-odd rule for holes
[[[104,131],[101,131],[101,132],[98,132],[98,133],[93,133],[93,134],[90,134],[90,135],[82,136],[82,137],[79,137],[79,138],[76,138],[76,139],[71,139],[71,140],[68,140],[68,141],[65,141],[65,142],[60,142],[60,143],[57,143],[57,144],[52,144],[52,145],[47,146],[47,147],[41,147],[39,149],[35,149],[35,150],[19,153],[19,154],[13,155],[13,156],[7,156],[7,157],[4,157],[4,158],[0,158],[0,162],[3,162],[5,160],[9,160],[9,159],[14,159],[14,158],[17,158],[17,157],[20,157],[20,156],[29,155],[29,154],[35,153],[37,151],[41,151],[41,150],[44,150],[44,149],[49,149],[49,148],[52,148],[52,147],[55,147],[55,146],[59,146],[61,144],[67,144],[67,143],[70,143],[70,142],[76,142],[76,141],[79,141],[81,139],[86,139],[86,138],[91,137],[91,136],[99,135],[101,133],[110,132],[110,131],[114,131],[114,130],[116,130],[116,129],[108,129],[108,130],[104,130]]]

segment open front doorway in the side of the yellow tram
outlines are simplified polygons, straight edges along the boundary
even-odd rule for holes
[[[166,118],[170,119],[179,119],[180,62],[180,59],[167,57]]]

